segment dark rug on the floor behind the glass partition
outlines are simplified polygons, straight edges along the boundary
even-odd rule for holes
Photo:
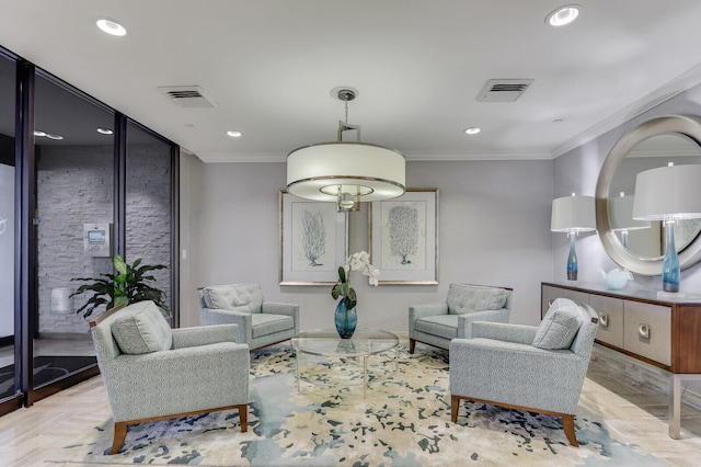
[[[54,379],[66,376],[94,365],[94,356],[35,356],[34,387],[44,386]],[[0,399],[14,394],[14,365],[0,368]]]

